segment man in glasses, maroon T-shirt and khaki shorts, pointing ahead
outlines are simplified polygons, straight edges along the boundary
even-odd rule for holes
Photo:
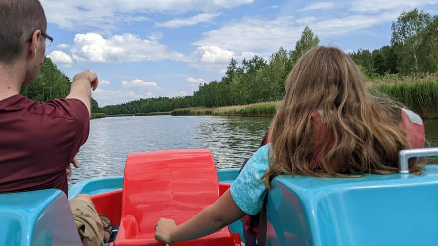
[[[67,195],[70,163],[78,167],[74,157],[88,137],[95,73],[77,74],[65,99],[40,103],[19,95],[53,40],[46,29],[39,0],[0,0],[0,193],[56,188]],[[70,205],[84,245],[102,245],[90,198],[78,196]]]

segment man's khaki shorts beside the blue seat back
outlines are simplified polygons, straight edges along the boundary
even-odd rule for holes
[[[102,246],[104,244],[104,229],[93,204],[75,198],[69,203],[82,245]]]

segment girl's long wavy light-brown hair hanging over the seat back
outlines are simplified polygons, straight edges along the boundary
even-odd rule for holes
[[[294,66],[285,90],[270,127],[270,167],[262,177],[266,187],[281,174],[350,177],[398,171],[398,152],[410,147],[398,126],[400,108],[369,95],[363,76],[344,52],[311,49]],[[327,127],[325,138],[318,140],[320,150],[312,121],[318,111]],[[324,153],[313,160],[314,152],[321,150]],[[420,173],[415,160],[409,167]]]

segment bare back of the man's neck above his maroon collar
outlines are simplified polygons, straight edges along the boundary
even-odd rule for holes
[[[20,93],[25,77],[25,68],[19,64],[0,63],[0,101]]]

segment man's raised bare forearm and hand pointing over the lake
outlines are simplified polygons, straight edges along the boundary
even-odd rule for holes
[[[98,77],[95,73],[90,72],[88,69],[84,70],[73,77],[70,94],[66,98],[82,101],[90,114],[91,89],[94,91],[98,87],[98,83]]]

